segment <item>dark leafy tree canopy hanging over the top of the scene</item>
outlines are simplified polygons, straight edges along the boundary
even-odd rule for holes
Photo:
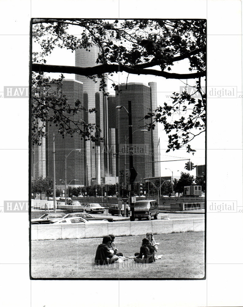
[[[33,19],[32,23],[33,42],[41,46],[40,52],[33,53],[34,72],[76,73],[88,76],[95,82],[99,77],[100,90],[104,94],[107,79],[112,79],[114,72],[184,79],[185,90],[173,93],[171,103],[161,102],[161,106],[150,110],[145,119],[148,119],[149,129],[153,129],[156,122],[163,123],[168,134],[167,151],[183,146],[188,152],[195,151],[191,149],[190,142],[205,129],[206,95],[202,87],[206,76],[205,20]],[[90,51],[93,45],[99,48],[94,67],[45,64],[46,56],[56,47],[73,52],[78,48]],[[187,61],[189,73],[172,72],[174,63],[183,60]],[[188,79],[193,82],[192,92],[189,93]],[[116,86],[114,82],[113,85]],[[45,112],[41,105],[37,108]],[[149,120],[151,118],[152,122]],[[58,124],[64,121],[60,116],[55,119]],[[83,126],[72,131],[88,134],[89,137],[90,129]],[[34,135],[36,131],[37,126],[33,126]],[[60,126],[60,133],[70,132],[67,122]]]

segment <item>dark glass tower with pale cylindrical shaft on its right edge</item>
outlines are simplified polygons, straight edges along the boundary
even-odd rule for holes
[[[132,123],[133,123],[133,163],[138,175],[136,180],[143,181],[147,177],[159,176],[159,153],[158,153],[158,128],[143,132],[146,129],[144,116],[151,109],[157,107],[156,83],[148,85],[142,83],[121,84],[118,87],[115,98],[116,106],[124,106],[128,110],[128,101],[132,102]],[[109,98],[108,98],[109,101]],[[118,131],[118,152],[116,159],[118,176],[124,181],[124,174],[129,169],[129,144],[128,140],[128,114],[122,109],[117,111],[116,129]],[[148,121],[148,120],[147,120]],[[149,163],[144,163],[149,162]]]

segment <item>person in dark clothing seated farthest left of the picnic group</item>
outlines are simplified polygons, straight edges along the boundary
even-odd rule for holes
[[[117,261],[119,258],[114,253],[110,252],[110,244],[111,237],[109,235],[105,235],[103,237],[103,241],[98,245],[95,255],[95,264],[97,265],[105,265],[111,264]]]

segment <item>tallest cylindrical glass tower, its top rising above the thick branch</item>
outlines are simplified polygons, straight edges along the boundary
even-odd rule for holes
[[[86,49],[77,49],[75,51],[75,66],[93,67],[99,54],[97,46],[88,47]],[[100,91],[100,79],[96,78],[96,82],[86,76],[75,75],[75,79],[83,83],[84,107],[96,109],[96,113],[84,114],[84,120],[88,123],[95,123],[101,131],[95,131],[94,134],[104,138],[104,142],[94,144],[91,141],[85,142],[85,150],[89,154],[90,159],[85,162],[86,176],[88,184],[92,184],[92,178],[95,183],[101,183],[101,177],[109,176],[109,136],[108,136],[108,109],[107,98]]]

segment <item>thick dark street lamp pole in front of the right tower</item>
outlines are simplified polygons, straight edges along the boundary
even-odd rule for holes
[[[122,110],[122,108],[127,112],[128,114],[128,138],[129,138],[129,144],[133,145],[133,123],[132,123],[132,102],[131,100],[128,101],[128,111],[124,106],[117,106],[117,110]],[[137,172],[133,167],[133,150],[129,154],[129,170],[130,170],[130,179],[129,184],[131,186],[130,190],[130,210],[131,210],[131,216],[130,220],[134,221],[134,181],[137,177]],[[125,208],[124,208],[125,209]]]

